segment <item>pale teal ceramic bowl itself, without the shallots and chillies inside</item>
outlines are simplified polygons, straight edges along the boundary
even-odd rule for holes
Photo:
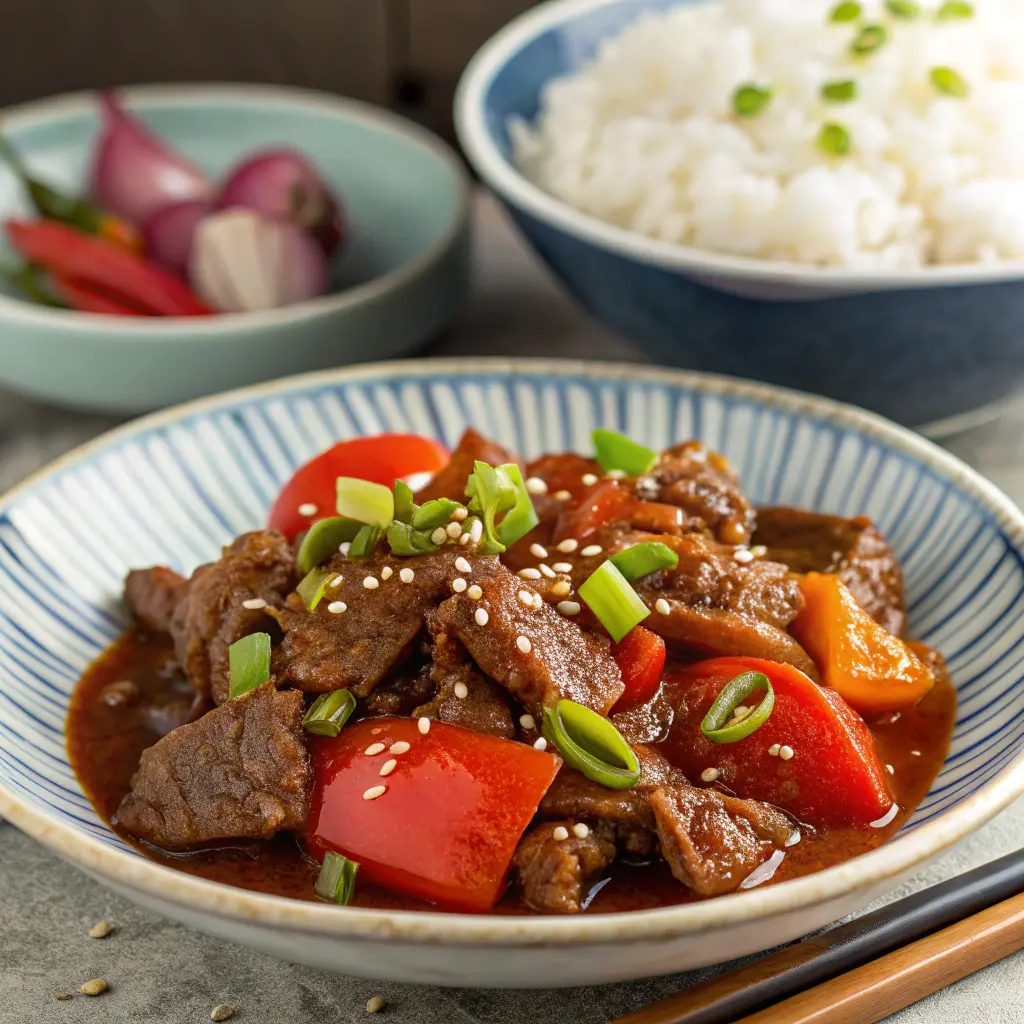
[[[0,382],[66,406],[140,412],[302,370],[410,351],[453,319],[468,286],[469,187],[458,158],[364,103],[271,86],[145,86],[128,106],[213,175],[275,143],[307,154],[343,196],[351,242],[330,295],[264,313],[125,318],[52,310],[0,284]],[[30,167],[80,189],[98,120],[80,94],[9,111]],[[0,219],[28,212],[0,170]],[[0,261],[14,257],[0,243]]]

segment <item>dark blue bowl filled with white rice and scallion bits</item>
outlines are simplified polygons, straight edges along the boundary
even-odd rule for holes
[[[1022,39],[1019,0],[555,0],[456,123],[656,357],[941,433],[1024,381]]]

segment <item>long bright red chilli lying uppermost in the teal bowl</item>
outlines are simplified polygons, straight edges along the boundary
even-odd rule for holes
[[[173,274],[123,249],[53,220],[8,220],[11,245],[51,273],[123,296],[160,316],[206,316],[213,312]]]

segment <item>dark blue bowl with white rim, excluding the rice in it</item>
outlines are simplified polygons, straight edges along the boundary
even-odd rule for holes
[[[480,177],[586,308],[659,361],[855,402],[933,434],[984,418],[1024,382],[1024,264],[862,272],[657,242],[574,210],[512,163],[509,118],[646,11],[698,0],[555,0],[500,32],[460,84],[456,123]]]

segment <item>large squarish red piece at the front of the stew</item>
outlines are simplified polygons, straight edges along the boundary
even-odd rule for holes
[[[409,750],[391,753],[394,743]],[[334,850],[373,882],[472,911],[489,910],[505,891],[519,837],[561,765],[525,743],[439,722],[424,735],[411,718],[367,719],[312,748],[310,852]],[[366,799],[375,786],[385,792]]]

